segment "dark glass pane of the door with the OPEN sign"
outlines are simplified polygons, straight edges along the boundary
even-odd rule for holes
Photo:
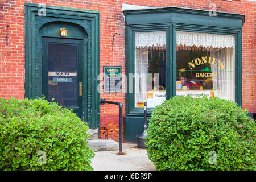
[[[77,105],[77,46],[48,44],[48,101]]]

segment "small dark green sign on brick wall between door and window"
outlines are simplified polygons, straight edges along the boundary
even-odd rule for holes
[[[122,92],[122,67],[103,67],[104,93]]]

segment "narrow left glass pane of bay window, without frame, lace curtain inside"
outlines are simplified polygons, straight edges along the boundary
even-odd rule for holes
[[[166,32],[135,32],[135,107],[166,100]]]

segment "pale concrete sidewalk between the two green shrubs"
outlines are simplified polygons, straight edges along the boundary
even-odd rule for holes
[[[123,143],[125,155],[117,151],[98,151],[92,159],[94,171],[155,171],[154,164],[148,159],[146,149],[137,144]]]

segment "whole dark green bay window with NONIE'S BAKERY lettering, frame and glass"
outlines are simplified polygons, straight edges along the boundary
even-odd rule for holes
[[[220,97],[242,106],[242,14],[164,7],[124,10],[125,138],[143,128],[151,109],[176,95]],[[139,74],[141,73],[141,75]]]

